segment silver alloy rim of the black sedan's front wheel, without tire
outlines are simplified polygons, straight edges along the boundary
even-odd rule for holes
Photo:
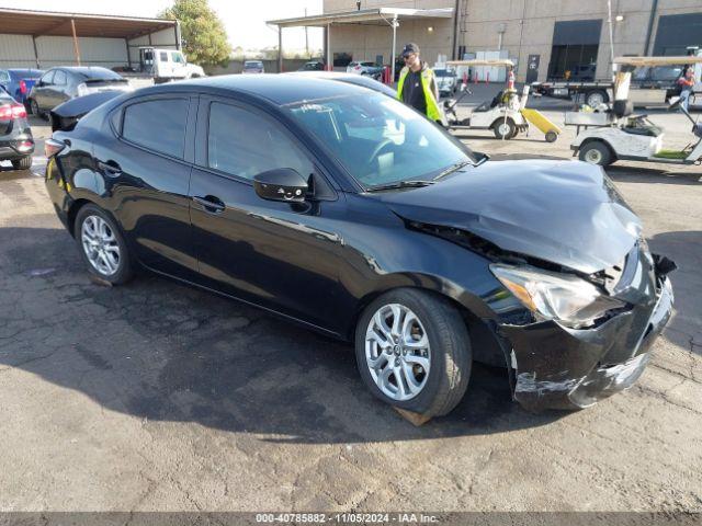
[[[365,333],[365,362],[386,397],[405,401],[419,395],[431,366],[429,338],[419,317],[399,304],[377,309]]]

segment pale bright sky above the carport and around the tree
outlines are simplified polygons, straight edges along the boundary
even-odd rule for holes
[[[224,22],[231,47],[245,49],[278,46],[278,31],[265,25],[267,20],[321,13],[322,0],[210,0],[210,7]],[[2,8],[36,9],[127,16],[156,16],[172,4],[172,0],[0,0]],[[309,47],[322,47],[322,30],[309,28]],[[304,49],[305,31],[291,27],[283,31],[284,49]]]

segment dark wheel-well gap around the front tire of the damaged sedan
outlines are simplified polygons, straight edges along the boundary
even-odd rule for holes
[[[397,287],[397,288],[410,288],[410,287]],[[431,294],[437,297],[441,297],[448,300],[453,307],[455,307],[461,317],[463,318],[467,329],[468,335],[471,336],[471,346],[473,348],[473,359],[476,362],[480,362],[483,364],[496,366],[496,367],[507,367],[507,357],[505,356],[505,352],[500,346],[498,341],[498,336],[495,334],[491,328],[489,328],[480,318],[474,315],[469,309],[465,306],[456,301],[450,296],[438,293],[435,290],[431,290],[422,287],[412,287],[418,290],[422,290],[427,294]],[[359,307],[353,316],[353,323],[351,324],[351,329],[348,334],[348,339],[351,342],[355,341],[355,328],[361,318],[361,315],[365,310],[365,308],[371,305],[378,296],[382,296],[395,288],[388,288],[386,290],[374,291],[361,299],[359,302]]]

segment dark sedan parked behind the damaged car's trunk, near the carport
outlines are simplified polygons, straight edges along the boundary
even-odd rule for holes
[[[44,116],[76,96],[101,91],[131,91],[129,81],[121,75],[100,67],[52,68],[34,84],[29,102],[32,113]]]

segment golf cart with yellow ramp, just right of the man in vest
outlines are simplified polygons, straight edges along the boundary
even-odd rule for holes
[[[472,68],[486,67],[513,67],[509,59],[474,59],[449,60],[451,67]],[[466,118],[458,118],[456,108],[458,103],[473,94],[466,84],[461,84],[461,94],[457,99],[448,99],[443,103],[449,129],[491,129],[498,139],[511,139],[520,132],[529,134],[529,123],[541,129],[546,141],[553,142],[558,138],[561,129],[536,110],[525,108],[529,98],[529,87],[524,87],[521,96],[514,89],[501,90],[491,101],[485,101],[478,105]]]

